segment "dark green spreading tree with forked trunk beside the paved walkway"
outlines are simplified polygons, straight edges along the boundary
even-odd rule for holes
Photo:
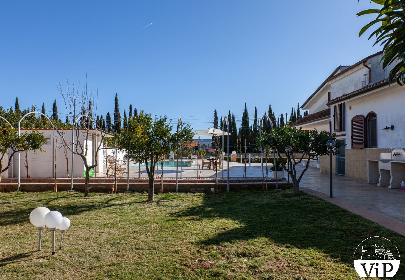
[[[318,132],[316,129],[306,131],[289,126],[275,127],[271,129],[269,134],[257,138],[258,145],[262,144],[263,147],[276,149],[279,161],[283,162],[284,170],[290,174],[295,196],[298,196],[299,183],[309,167],[309,161],[318,160],[319,156],[329,154],[329,150],[326,148],[326,141],[328,140],[336,141],[335,134],[330,136],[326,131]],[[336,155],[342,146],[345,146],[345,144],[337,142],[333,155]],[[281,153],[284,153],[286,148],[290,148],[290,153],[287,154],[287,161],[292,166],[290,170],[286,168],[286,160],[281,156]],[[308,159],[307,163],[301,174],[298,174],[296,166],[304,158]]]

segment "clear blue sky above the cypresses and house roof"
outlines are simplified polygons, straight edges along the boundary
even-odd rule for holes
[[[0,10],[0,106],[56,98],[85,81],[99,115],[129,104],[183,117],[195,129],[234,112],[241,120],[271,103],[276,115],[302,104],[339,65],[380,50],[358,38],[368,0],[7,1]],[[146,25],[152,23],[146,28]],[[142,29],[143,28],[143,29]],[[197,117],[191,117],[197,116]],[[240,121],[238,122],[239,126]]]

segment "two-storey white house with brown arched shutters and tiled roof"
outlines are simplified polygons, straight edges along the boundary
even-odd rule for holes
[[[383,69],[381,58],[378,52],[352,66],[336,68],[301,106],[311,114],[292,124],[336,133],[347,144],[333,157],[335,174],[366,180],[369,160],[405,147],[405,87],[395,81],[388,84],[388,73],[395,65]],[[329,169],[329,157],[322,156],[320,172],[329,173]],[[405,180],[405,163],[399,172]]]

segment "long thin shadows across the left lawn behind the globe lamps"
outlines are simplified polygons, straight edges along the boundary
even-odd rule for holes
[[[7,210],[4,212],[0,212],[0,225],[7,226],[7,225],[16,225],[19,223],[27,223],[29,222],[29,215],[31,211],[38,206],[49,206],[49,202],[51,201],[58,201],[58,199],[66,199],[68,197],[77,199],[83,199],[83,193],[74,193],[69,195],[64,195],[60,197],[52,197],[49,199],[33,199],[31,204],[21,205],[21,202],[13,202],[17,205],[17,208]],[[91,197],[89,197],[91,199]],[[72,204],[61,204],[61,205],[52,205],[50,210],[56,210],[61,212],[64,216],[73,216],[83,212],[95,211],[100,208],[109,208],[109,207],[116,207],[116,206],[126,206],[132,204],[142,204],[146,203],[147,200],[141,201],[129,201],[129,202],[122,202],[122,203],[111,203],[119,198],[119,196],[115,196],[113,198],[109,198],[104,201],[91,201],[90,199],[85,201],[81,201],[80,203],[70,202]],[[46,202],[45,204],[35,204],[36,202]]]

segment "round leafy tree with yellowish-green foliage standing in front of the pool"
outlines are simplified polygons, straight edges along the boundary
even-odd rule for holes
[[[152,118],[141,111],[138,117],[128,120],[127,127],[121,129],[118,138],[119,146],[127,151],[129,157],[145,163],[149,178],[148,201],[153,200],[155,167],[159,158],[168,155],[172,145],[191,142],[194,136],[190,125],[172,132],[171,122],[166,116]]]

